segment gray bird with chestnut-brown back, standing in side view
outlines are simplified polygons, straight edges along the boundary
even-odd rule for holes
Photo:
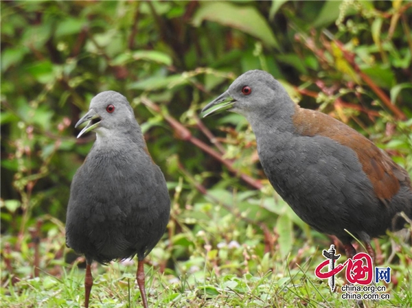
[[[230,109],[247,118],[264,173],[304,222],[336,235],[347,257],[356,250],[348,230],[374,259],[371,237],[399,230],[412,217],[412,185],[405,169],[367,138],[321,112],[299,108],[265,71],[240,75],[203,108]]]

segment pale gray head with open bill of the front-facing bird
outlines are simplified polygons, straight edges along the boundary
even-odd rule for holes
[[[122,128],[136,122],[126,97],[115,91],[104,91],[93,97],[89,111],[75,127],[86,121],[89,123],[78,134],[78,138],[91,130],[103,135],[121,132]]]

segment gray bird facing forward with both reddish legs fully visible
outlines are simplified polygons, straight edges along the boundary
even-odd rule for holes
[[[89,307],[93,260],[105,264],[137,254],[136,279],[147,308],[143,260],[168,224],[165,178],[126,97],[114,91],[96,95],[76,128],[86,121],[78,137],[92,130],[96,141],[71,182],[66,221],[67,246],[87,261],[84,306]]]

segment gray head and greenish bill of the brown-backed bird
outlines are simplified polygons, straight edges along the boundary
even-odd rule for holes
[[[284,107],[284,100],[290,97],[284,87],[266,71],[253,70],[240,75],[229,89],[203,108],[202,115],[231,110],[247,118],[260,117]]]

